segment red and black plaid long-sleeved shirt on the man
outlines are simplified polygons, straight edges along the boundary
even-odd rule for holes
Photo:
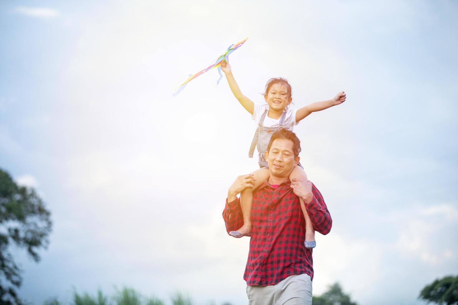
[[[253,231],[243,275],[247,285],[274,285],[302,273],[313,279],[312,249],[304,246],[305,219],[299,197],[290,185],[288,180],[273,188],[266,181],[253,194]],[[315,230],[325,235],[331,230],[333,220],[315,185],[312,193],[314,198],[305,207]],[[226,199],[223,218],[228,233],[243,225],[240,199],[229,203]]]

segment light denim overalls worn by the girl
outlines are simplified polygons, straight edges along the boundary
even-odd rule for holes
[[[267,151],[267,145],[269,144],[270,137],[272,134],[281,128],[284,127],[284,120],[285,120],[285,115],[286,111],[284,111],[280,117],[280,122],[278,123],[277,126],[273,127],[266,127],[263,126],[262,124],[264,123],[264,118],[266,118],[267,112],[269,111],[269,108],[262,113],[261,119],[259,120],[258,123],[258,128],[256,129],[255,136],[253,137],[253,141],[251,141],[251,146],[250,146],[250,152],[248,153],[248,157],[252,158],[253,153],[255,151],[255,147],[257,146],[258,153],[259,153],[259,167],[260,168],[269,168],[267,165],[267,160],[266,160],[266,154],[265,152]]]

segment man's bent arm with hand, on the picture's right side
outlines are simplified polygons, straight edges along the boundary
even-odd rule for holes
[[[293,188],[294,194],[304,199],[305,210],[309,215],[313,228],[322,235],[329,233],[333,226],[333,219],[329,214],[322,194],[315,185],[310,181],[305,182],[294,178],[293,182],[291,182],[291,188]]]

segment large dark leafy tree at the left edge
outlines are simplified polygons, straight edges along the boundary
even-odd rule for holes
[[[22,304],[16,289],[22,284],[21,269],[10,246],[26,249],[39,262],[39,248],[47,248],[51,232],[50,213],[33,188],[18,186],[0,169],[0,303]]]

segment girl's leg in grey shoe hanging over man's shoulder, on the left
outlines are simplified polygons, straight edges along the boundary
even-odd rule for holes
[[[234,237],[242,237],[245,234],[251,233],[253,226],[251,225],[251,202],[253,201],[253,191],[262,185],[269,178],[269,170],[260,168],[253,171],[252,174],[255,178],[255,185],[247,187],[240,193],[240,205],[242,206],[243,226],[237,230],[241,235],[234,233],[230,234]]]

